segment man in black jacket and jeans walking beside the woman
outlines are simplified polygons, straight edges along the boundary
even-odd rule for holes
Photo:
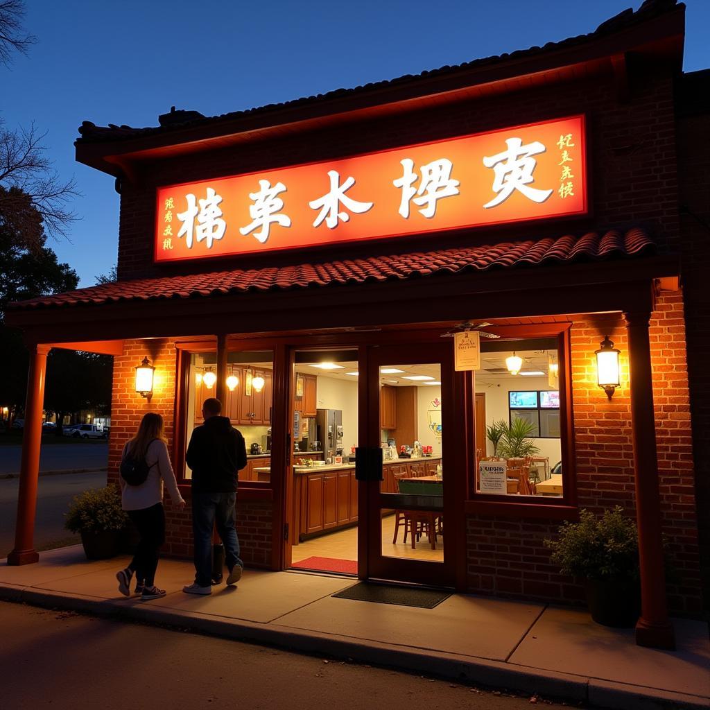
[[[246,466],[241,432],[228,417],[221,417],[218,399],[204,400],[204,424],[192,431],[185,461],[192,469],[192,531],[195,537],[195,583],[182,588],[187,594],[212,594],[212,528],[224,543],[227,584],[241,579],[244,564],[236,537],[237,471]]]

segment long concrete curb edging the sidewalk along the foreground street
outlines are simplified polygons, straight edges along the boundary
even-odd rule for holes
[[[505,688],[600,707],[623,710],[707,710],[710,707],[708,699],[698,696],[545,671],[485,658],[472,659],[439,651],[354,640],[346,636],[279,627],[273,623],[266,625],[226,620],[224,617],[151,606],[138,599],[114,601],[90,596],[67,596],[62,592],[9,584],[0,584],[0,599],[119,620],[123,618],[173,626],[247,643],[278,646],[296,652],[433,675],[452,682]]]

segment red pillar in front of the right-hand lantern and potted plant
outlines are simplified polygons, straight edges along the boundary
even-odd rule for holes
[[[656,452],[650,313],[625,313],[631,383],[631,426],[636,489],[636,522],[641,572],[641,617],[636,643],[652,648],[675,648],[668,619],[663,567],[658,460]]]

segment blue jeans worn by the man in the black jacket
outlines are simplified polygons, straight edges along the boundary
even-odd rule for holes
[[[236,537],[234,504],[236,493],[192,493],[192,532],[195,536],[195,581],[200,586],[212,584],[212,528],[224,543],[226,566],[244,567],[239,558],[239,538]]]

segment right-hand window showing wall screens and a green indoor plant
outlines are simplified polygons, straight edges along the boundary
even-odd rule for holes
[[[481,339],[476,371],[476,493],[562,498],[558,337]],[[506,360],[522,359],[515,374]],[[514,498],[515,497],[515,498]]]

